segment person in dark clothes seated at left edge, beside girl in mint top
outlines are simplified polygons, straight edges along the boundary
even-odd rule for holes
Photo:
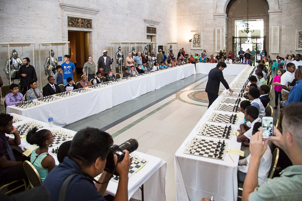
[[[6,136],[13,134],[14,139]],[[15,156],[10,145],[18,146],[21,144],[19,132],[13,126],[13,116],[0,114],[0,181],[7,184],[19,179],[26,179],[23,169],[23,161],[29,160],[25,156]]]

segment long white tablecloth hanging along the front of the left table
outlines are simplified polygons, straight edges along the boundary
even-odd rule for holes
[[[196,74],[194,64],[177,66],[104,88],[42,103],[32,108],[8,106],[7,113],[16,113],[42,122],[48,122],[48,116],[51,115],[53,124],[62,127],[193,74]]]

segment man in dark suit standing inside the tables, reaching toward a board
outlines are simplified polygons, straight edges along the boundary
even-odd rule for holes
[[[208,82],[206,83],[205,92],[207,92],[209,98],[209,106],[215,101],[218,97],[219,85],[220,82],[226,89],[229,89],[231,93],[234,91],[229,87],[228,82],[225,81],[222,70],[226,68],[226,64],[223,61],[219,61],[217,66],[210,70],[208,75]]]

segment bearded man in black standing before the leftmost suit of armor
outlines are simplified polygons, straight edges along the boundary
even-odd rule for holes
[[[23,65],[18,70],[18,77],[20,80],[20,89],[21,93],[24,95],[28,89],[30,89],[29,81],[35,80],[37,81],[37,74],[34,66],[30,65],[30,59],[25,57],[23,59]]]

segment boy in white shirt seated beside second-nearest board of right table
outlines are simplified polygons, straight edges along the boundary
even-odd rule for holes
[[[245,109],[244,118],[249,121],[240,125],[239,135],[237,137],[237,142],[243,142],[246,139],[251,139],[252,129],[256,122],[261,122],[261,118],[258,117],[259,111],[254,106],[248,106]]]

